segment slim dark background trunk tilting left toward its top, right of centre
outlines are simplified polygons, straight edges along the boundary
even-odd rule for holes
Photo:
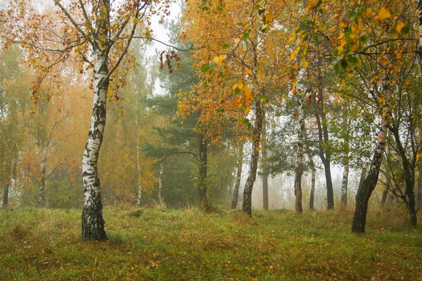
[[[324,89],[321,83],[321,74],[319,75],[319,107],[316,113],[316,125],[318,126],[318,137],[319,137],[319,157],[321,162],[324,164],[324,174],[326,178],[326,189],[327,189],[327,209],[334,209],[334,192],[333,192],[333,180],[331,178],[331,152],[326,148],[329,141],[328,128],[326,122],[326,114],[324,111]]]

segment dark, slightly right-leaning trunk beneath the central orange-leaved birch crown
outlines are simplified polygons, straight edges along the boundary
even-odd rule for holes
[[[252,129],[252,158],[250,171],[243,191],[243,211],[252,216],[252,189],[257,176],[258,159],[260,158],[261,132],[264,112],[260,98],[255,98],[255,124]]]

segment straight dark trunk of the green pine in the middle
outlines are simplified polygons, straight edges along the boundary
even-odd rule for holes
[[[204,211],[208,211],[210,207],[207,201],[207,140],[205,135],[199,135],[199,179],[198,179],[198,192],[199,192],[199,205]]]

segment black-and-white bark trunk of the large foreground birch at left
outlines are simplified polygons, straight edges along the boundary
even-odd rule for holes
[[[103,143],[106,127],[106,103],[108,91],[107,56],[94,51],[97,61],[94,65],[94,104],[87,146],[82,158],[82,178],[84,182],[84,209],[82,211],[82,239],[106,240],[104,230],[101,184],[98,177],[98,155]]]

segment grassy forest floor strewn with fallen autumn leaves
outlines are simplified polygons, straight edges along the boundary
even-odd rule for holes
[[[353,235],[352,211],[106,207],[105,242],[80,217],[0,209],[0,280],[422,280],[422,229],[397,209]]]

